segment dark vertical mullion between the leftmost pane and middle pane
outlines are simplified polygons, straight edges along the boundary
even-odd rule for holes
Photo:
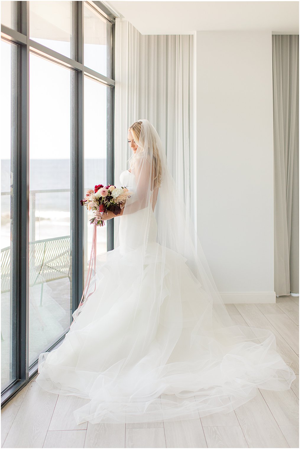
[[[29,2],[20,2],[20,31],[29,33]],[[20,47],[18,61],[18,240],[17,240],[17,304],[19,313],[18,378],[29,377],[29,45]]]

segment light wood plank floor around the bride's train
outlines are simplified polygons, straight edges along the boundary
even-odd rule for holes
[[[274,332],[277,349],[297,374],[290,390],[258,390],[229,414],[182,422],[76,425],[88,402],[45,392],[35,378],[1,410],[4,448],[299,448],[299,298],[276,304],[229,304],[234,321]]]

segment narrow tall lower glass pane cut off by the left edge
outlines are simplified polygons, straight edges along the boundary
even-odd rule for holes
[[[13,171],[17,149],[17,52],[1,40],[1,390],[16,379],[16,303],[13,292]]]

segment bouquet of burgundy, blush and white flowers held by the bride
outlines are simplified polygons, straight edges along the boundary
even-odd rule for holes
[[[99,211],[101,214],[106,214],[107,211],[112,211],[115,215],[121,212],[121,206],[127,198],[131,197],[132,192],[129,192],[125,186],[117,188],[115,185],[95,185],[94,189],[89,189],[85,198],[80,200],[81,206],[87,207],[88,211]],[[104,226],[104,220],[97,220],[96,217],[91,218],[90,223],[97,226]]]

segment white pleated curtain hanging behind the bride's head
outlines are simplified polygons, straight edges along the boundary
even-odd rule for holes
[[[192,89],[193,35],[141,35],[130,22],[116,18],[115,183],[132,151],[128,127],[148,119],[195,223]]]

